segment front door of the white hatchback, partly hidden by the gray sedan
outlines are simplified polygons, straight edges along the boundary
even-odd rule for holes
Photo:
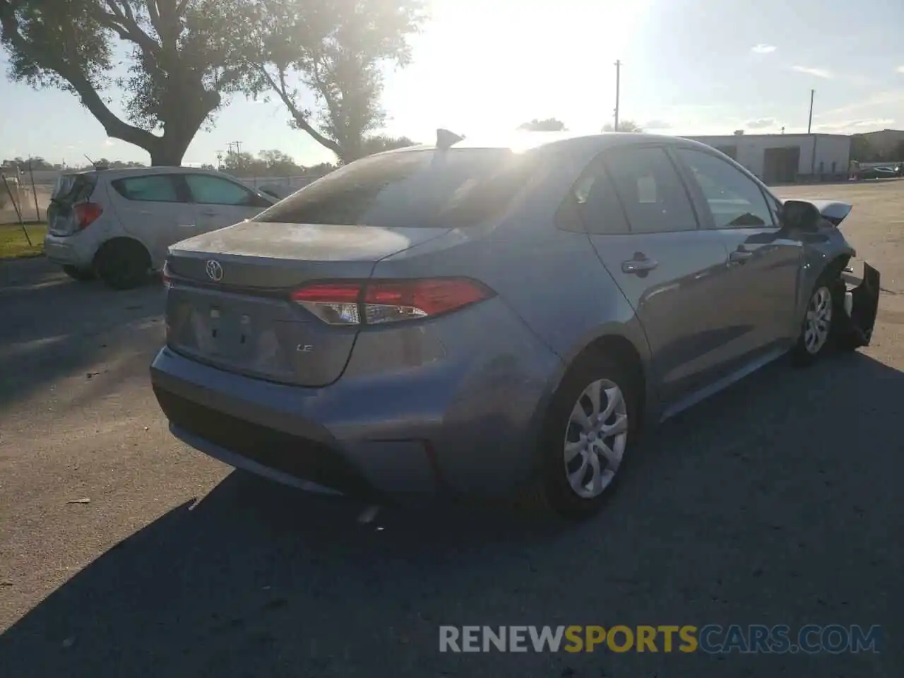
[[[224,176],[200,173],[183,176],[194,203],[199,233],[250,219],[276,202],[266,200],[247,186]]]

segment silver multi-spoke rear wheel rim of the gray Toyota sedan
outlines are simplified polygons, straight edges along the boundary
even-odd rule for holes
[[[565,476],[575,494],[593,499],[612,483],[627,433],[624,393],[614,381],[593,381],[574,404],[565,430]]]

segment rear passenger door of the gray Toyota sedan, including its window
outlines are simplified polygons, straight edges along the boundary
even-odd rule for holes
[[[698,229],[660,146],[604,153],[575,193],[599,259],[644,325],[664,405],[675,405],[713,381],[730,358],[720,237]]]

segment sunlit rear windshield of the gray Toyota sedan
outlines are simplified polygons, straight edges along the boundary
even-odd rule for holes
[[[502,212],[532,155],[507,148],[402,151],[346,165],[253,221],[408,228],[473,226]]]

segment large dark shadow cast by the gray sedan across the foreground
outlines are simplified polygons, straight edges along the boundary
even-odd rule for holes
[[[361,504],[234,472],[34,607],[3,636],[0,665],[22,676],[639,676],[673,663],[701,676],[900,674],[897,645],[829,664],[735,657],[731,670],[699,654],[441,654],[438,626],[815,622],[891,634],[904,599],[902,419],[901,373],[864,354],[775,363],[664,424],[607,510],[576,525],[474,504],[361,523]]]

